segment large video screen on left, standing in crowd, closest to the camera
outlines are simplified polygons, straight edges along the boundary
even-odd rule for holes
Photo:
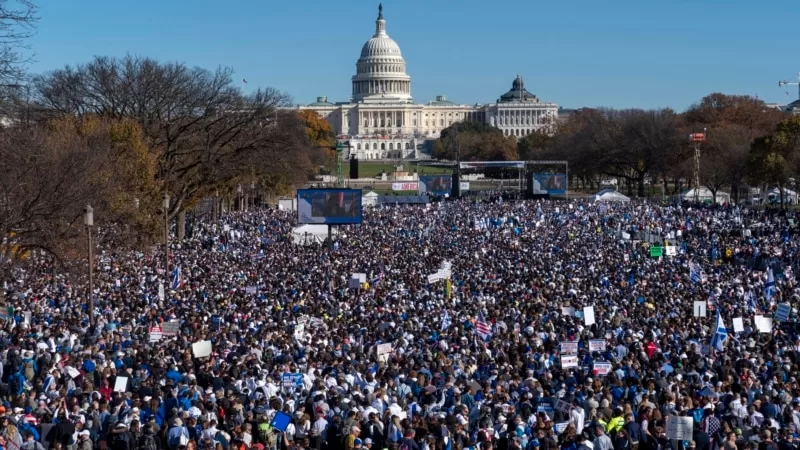
[[[298,189],[297,221],[329,225],[361,223],[361,190]]]

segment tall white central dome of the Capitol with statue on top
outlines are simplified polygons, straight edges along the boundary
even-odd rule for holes
[[[411,102],[411,77],[400,46],[386,34],[383,6],[378,5],[375,35],[361,47],[353,76],[354,102]]]

